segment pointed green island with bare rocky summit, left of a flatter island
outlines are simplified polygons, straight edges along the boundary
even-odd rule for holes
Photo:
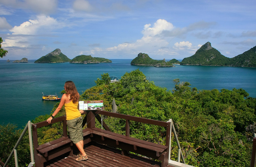
[[[60,49],[55,49],[51,53],[39,58],[34,63],[64,63],[69,61],[70,59],[61,53]]]

